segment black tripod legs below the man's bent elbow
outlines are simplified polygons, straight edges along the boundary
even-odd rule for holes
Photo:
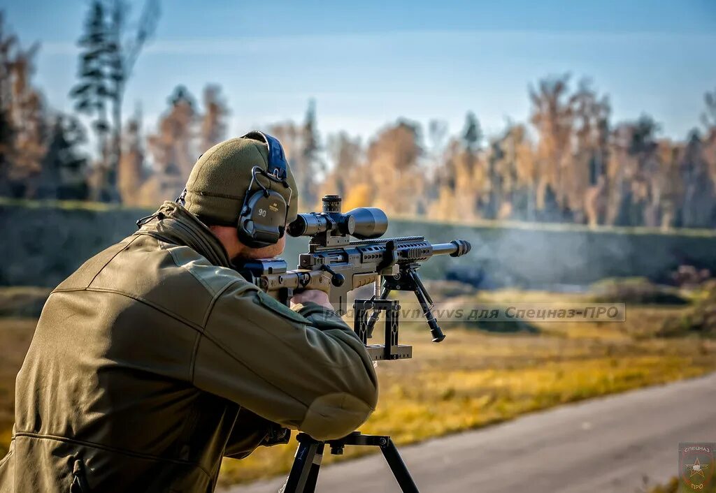
[[[326,445],[331,447],[331,454],[334,455],[343,454],[343,447],[346,445],[379,447],[403,493],[419,493],[390,436],[364,435],[360,431],[354,431],[343,438],[325,442],[314,440],[305,433],[299,433],[296,439],[299,441],[299,449],[296,450],[296,458],[293,467],[291,467],[289,479],[286,480],[284,493],[316,491],[316,481]]]

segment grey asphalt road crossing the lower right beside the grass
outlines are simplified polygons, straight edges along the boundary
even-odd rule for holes
[[[678,474],[679,441],[716,441],[716,374],[402,447],[421,493],[634,493]],[[284,478],[231,493],[276,492]],[[317,492],[400,492],[381,454],[321,469]]]

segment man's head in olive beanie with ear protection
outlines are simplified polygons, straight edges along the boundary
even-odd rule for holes
[[[185,208],[211,228],[232,260],[284,250],[281,233],[296,218],[298,190],[280,146],[273,137],[251,132],[211,147],[191,171]]]

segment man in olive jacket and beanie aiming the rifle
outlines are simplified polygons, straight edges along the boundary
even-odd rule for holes
[[[332,439],[362,424],[376,376],[326,293],[287,308],[231,268],[284,250],[297,195],[273,137],[221,142],[185,206],[165,202],[53,291],[17,376],[0,492],[211,492],[222,457],[281,427]],[[285,210],[276,229],[251,211],[262,197]]]

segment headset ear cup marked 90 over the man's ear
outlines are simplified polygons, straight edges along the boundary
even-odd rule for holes
[[[241,211],[236,233],[241,243],[251,248],[276,244],[286,228],[286,200],[279,192],[253,192]]]

